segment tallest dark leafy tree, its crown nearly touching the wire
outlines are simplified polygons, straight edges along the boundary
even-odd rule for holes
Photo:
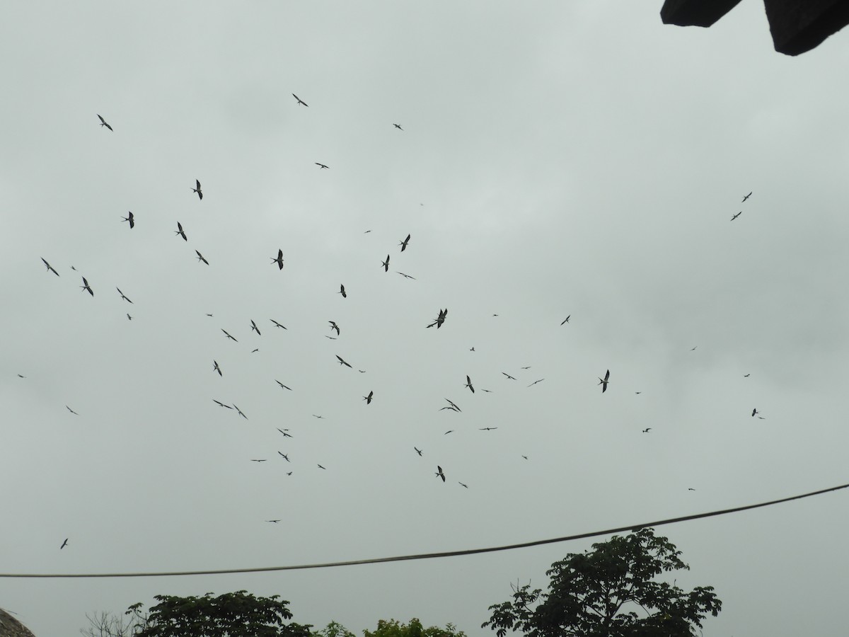
[[[489,607],[481,624],[504,637],[521,630],[530,637],[692,637],[701,620],[722,610],[712,586],[689,593],[655,581],[661,572],[689,567],[681,551],[651,528],[593,544],[554,562],[548,593],[531,585],[513,587],[513,600]]]

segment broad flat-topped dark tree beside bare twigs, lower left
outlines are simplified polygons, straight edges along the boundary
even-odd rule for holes
[[[292,613],[279,595],[255,597],[245,590],[214,597],[156,595],[138,637],[309,637],[310,626],[284,623]],[[127,615],[139,612],[134,604]]]

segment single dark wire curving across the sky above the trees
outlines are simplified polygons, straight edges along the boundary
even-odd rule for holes
[[[380,564],[388,561],[408,561],[408,560],[429,560],[434,557],[455,557],[457,555],[475,555],[477,553],[493,553],[499,550],[514,550],[526,549],[529,546],[540,546],[541,544],[554,544],[556,542],[568,542],[573,539],[593,538],[599,535],[610,535],[611,533],[620,533],[621,531],[637,531],[644,527],[661,527],[664,524],[674,524],[675,522],[683,522],[688,520],[698,520],[702,517],[725,516],[728,513],[737,513],[749,509],[758,509],[762,506],[779,505],[790,500],[799,500],[810,498],[812,495],[820,495],[821,493],[829,493],[829,491],[838,491],[849,487],[849,484],[841,484],[837,487],[820,489],[811,493],[802,493],[801,495],[790,496],[790,498],[782,498],[778,500],[770,500],[762,502],[758,505],[737,506],[734,509],[722,509],[709,511],[707,513],[696,513],[692,516],[681,516],[667,518],[666,520],[658,520],[652,522],[644,522],[641,524],[629,524],[627,527],[609,528],[604,531],[592,531],[590,533],[578,533],[576,535],[567,535],[564,538],[538,539],[532,542],[522,542],[520,544],[505,544],[504,546],[490,546],[486,549],[464,549],[464,550],[449,550],[440,553],[419,553],[418,555],[395,555],[394,557],[374,557],[368,560],[350,560],[350,561],[329,561],[318,564],[299,564],[290,567],[257,567],[257,568],[228,568],[216,571],[183,571],[183,572],[113,572],[113,573],[0,573],[0,578],[173,578],[182,575],[222,575],[224,573],[237,572],[266,572],[266,571],[300,571],[306,568],[330,568],[330,567],[351,567],[357,564]]]

